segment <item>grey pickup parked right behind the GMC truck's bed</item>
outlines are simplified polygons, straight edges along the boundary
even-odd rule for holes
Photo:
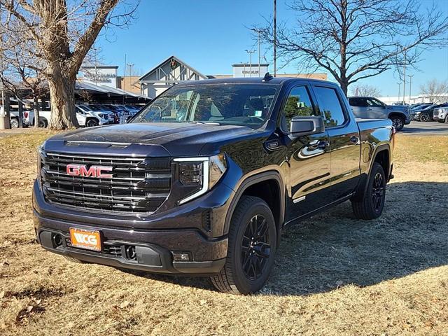
[[[411,123],[408,106],[386,105],[374,97],[349,97],[353,114],[358,118],[391,119],[397,131]]]

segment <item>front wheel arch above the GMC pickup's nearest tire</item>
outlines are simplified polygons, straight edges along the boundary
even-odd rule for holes
[[[274,215],[277,232],[280,232],[285,218],[284,186],[281,175],[276,171],[262,172],[253,176],[248,176],[244,179],[230,202],[230,207],[225,216],[223,233],[228,233],[233,213],[241,196],[244,195],[259,197],[269,205],[269,208]],[[279,241],[279,235],[277,236],[277,241]]]

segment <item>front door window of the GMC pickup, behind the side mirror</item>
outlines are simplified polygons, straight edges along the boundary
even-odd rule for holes
[[[288,96],[285,109],[283,110],[281,127],[283,130],[289,130],[291,119],[295,116],[310,117],[315,115],[307,87],[294,87]]]

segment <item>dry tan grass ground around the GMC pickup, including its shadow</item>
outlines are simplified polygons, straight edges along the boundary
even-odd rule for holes
[[[0,139],[0,335],[448,335],[448,137],[398,137],[384,214],[349,202],[283,232],[256,295],[81,265],[34,242],[45,131]]]

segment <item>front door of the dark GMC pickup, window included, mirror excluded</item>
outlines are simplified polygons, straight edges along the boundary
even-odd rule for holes
[[[319,116],[313,104],[309,85],[297,85],[290,90],[283,108],[281,129],[288,134],[290,120],[295,116]],[[291,139],[288,137],[290,176],[286,221],[308,214],[328,202],[330,190],[330,148],[328,134],[312,134]]]

